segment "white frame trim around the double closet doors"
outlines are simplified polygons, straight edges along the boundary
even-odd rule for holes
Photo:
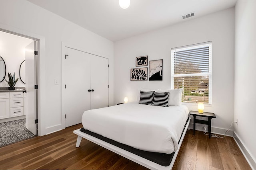
[[[62,129],[66,128],[65,113],[62,109],[62,91],[65,88],[64,83],[62,83],[62,62],[63,62],[63,59],[65,58],[65,51],[64,51],[65,47],[108,59],[108,64],[109,64],[109,58],[103,57],[104,54],[98,53],[96,51],[92,51],[91,49],[86,49],[85,47],[80,47],[77,45],[72,45],[72,44],[68,44],[68,43],[61,41],[61,55],[60,55],[60,59],[61,59],[61,66],[60,66],[60,70],[61,70],[60,71],[60,74],[61,74],[60,75],[60,77],[61,77],[61,80],[60,80],[60,82],[61,82],[61,102],[60,102],[60,107],[61,107],[61,109],[60,109],[60,111],[61,111],[61,128]],[[108,84],[109,84],[109,69],[108,69]],[[109,106],[109,88],[108,88],[108,106]]]

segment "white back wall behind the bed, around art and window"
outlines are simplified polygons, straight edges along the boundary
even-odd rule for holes
[[[127,96],[135,101],[138,88],[171,87],[171,48],[212,41],[214,112],[212,130],[228,129],[234,119],[234,8],[130,37],[114,43],[114,104]],[[135,57],[163,59],[163,81],[130,81],[130,68],[136,68]],[[197,110],[196,106],[188,106]],[[202,130],[202,129],[201,129]]]

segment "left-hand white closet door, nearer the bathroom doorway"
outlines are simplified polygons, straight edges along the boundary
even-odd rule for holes
[[[62,114],[66,115],[69,127],[81,123],[82,114],[90,109],[91,72],[90,54],[65,47],[65,55],[62,55]]]

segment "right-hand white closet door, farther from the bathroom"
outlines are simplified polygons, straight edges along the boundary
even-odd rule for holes
[[[92,55],[91,89],[91,109],[108,107],[108,59]]]

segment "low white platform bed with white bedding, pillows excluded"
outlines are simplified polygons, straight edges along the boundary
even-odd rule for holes
[[[188,129],[186,106],[149,106],[130,102],[85,111],[82,138],[150,169],[170,170]]]

